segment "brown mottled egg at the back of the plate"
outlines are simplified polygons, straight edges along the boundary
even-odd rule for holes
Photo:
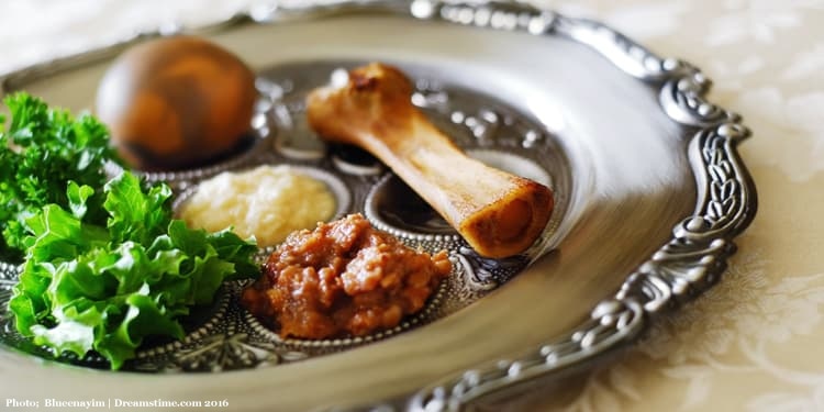
[[[142,170],[202,166],[247,135],[255,75],[235,55],[202,38],[142,43],[103,77],[97,114],[121,156]]]

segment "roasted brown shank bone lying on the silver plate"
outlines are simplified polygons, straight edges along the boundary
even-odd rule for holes
[[[342,87],[313,90],[309,123],[322,137],[386,163],[480,255],[524,252],[549,220],[552,190],[467,157],[412,105],[411,94],[399,69],[372,63],[349,71]]]

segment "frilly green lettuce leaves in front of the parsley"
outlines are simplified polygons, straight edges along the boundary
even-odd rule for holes
[[[183,337],[179,318],[212,302],[227,279],[255,278],[254,243],[171,219],[166,185],[125,171],[102,196],[69,182],[68,205],[47,204],[24,225],[26,260],[9,310],[16,330],[55,355],[96,350],[112,369],[148,336]],[[103,210],[103,223],[89,213]]]

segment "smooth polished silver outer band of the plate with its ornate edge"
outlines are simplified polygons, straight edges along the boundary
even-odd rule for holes
[[[387,4],[393,13],[376,13]],[[259,68],[366,58],[417,65],[532,116],[568,162],[570,183],[558,193],[568,205],[545,244],[557,250],[426,327],[341,355],[231,374],[223,393],[249,393],[264,379],[277,388],[270,404],[283,409],[387,399],[389,408],[430,411],[552,379],[633,342],[656,314],[710,288],[753,219],[755,188],[736,152],[748,132],[706,101],[710,82],[697,68],[598,22],[522,5],[417,0],[409,9],[415,19],[407,19],[396,16],[398,4],[258,10],[232,22],[279,23],[231,25],[214,38]],[[272,44],[277,53],[260,53]],[[99,56],[120,47],[12,74],[3,90],[51,92],[83,107],[88,96],[66,93],[80,86],[63,85],[93,85],[105,62]],[[218,390],[207,378],[193,380]],[[135,393],[163,392],[168,379],[141,379]],[[308,379],[311,388],[292,382]],[[176,383],[185,390],[191,380]]]

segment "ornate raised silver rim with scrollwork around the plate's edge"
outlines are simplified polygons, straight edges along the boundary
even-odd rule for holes
[[[590,318],[568,334],[438,379],[404,399],[407,409],[460,410],[481,398],[581,368],[636,341],[661,314],[695,299],[721,278],[727,258],[735,253],[734,238],[757,211],[755,182],[737,151],[750,132],[737,113],[710,102],[712,81],[698,67],[660,57],[594,20],[503,1],[310,0],[293,8],[253,8],[209,26],[157,27],[78,55],[0,73],[0,96],[14,90],[16,83],[112,57],[148,37],[207,34],[237,24],[277,24],[353,11],[390,12],[424,21],[571,40],[599,53],[626,75],[658,87],[658,100],[667,116],[692,134],[687,155],[695,179],[694,210],[672,227],[668,242],[626,275],[614,296],[598,303]]]

